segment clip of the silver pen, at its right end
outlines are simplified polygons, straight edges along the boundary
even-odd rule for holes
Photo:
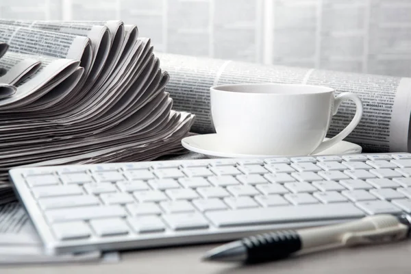
[[[385,227],[366,232],[348,232],[343,234],[341,242],[346,246],[381,244],[384,242],[395,242],[406,238],[408,226],[399,224],[395,227]]]

